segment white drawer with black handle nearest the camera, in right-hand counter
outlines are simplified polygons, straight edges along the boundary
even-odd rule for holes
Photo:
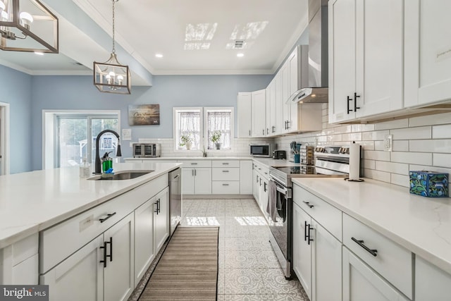
[[[360,240],[362,245],[352,240]],[[387,279],[395,288],[412,299],[412,253],[393,240],[369,228],[357,219],[343,214],[343,244],[366,264]],[[376,256],[369,251],[377,250]]]

